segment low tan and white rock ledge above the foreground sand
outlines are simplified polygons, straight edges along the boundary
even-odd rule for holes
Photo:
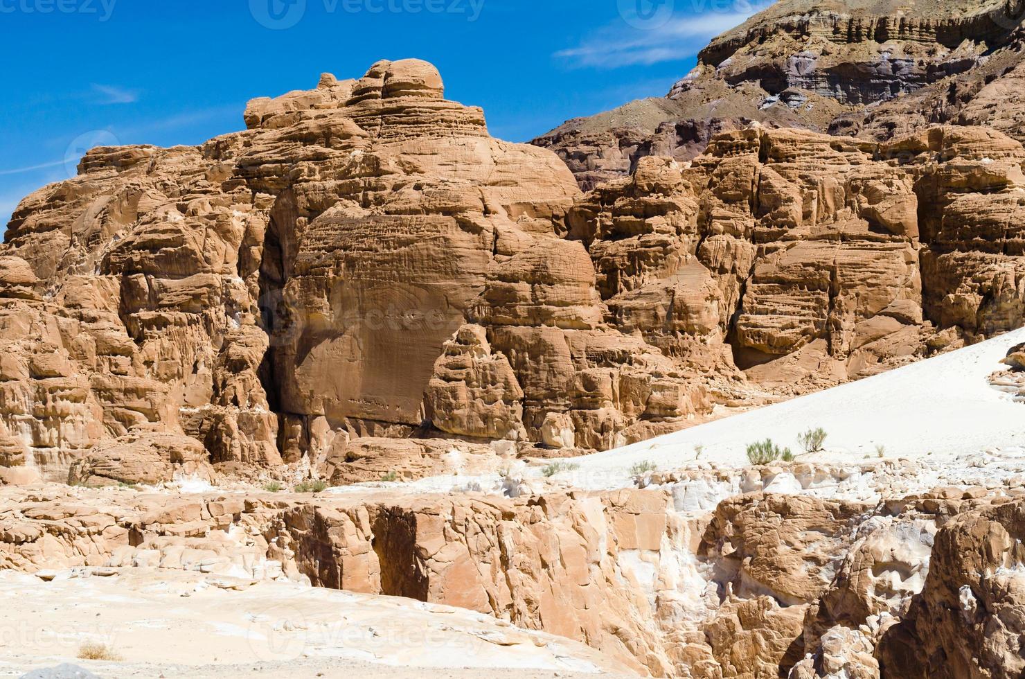
[[[404,596],[583,641],[653,676],[1012,676],[1017,481],[816,496],[844,475],[864,489],[924,473],[907,461],[688,470],[647,489],[515,498],[8,487],[0,564]],[[787,475],[789,494],[766,492]],[[695,504],[723,482],[749,492]]]

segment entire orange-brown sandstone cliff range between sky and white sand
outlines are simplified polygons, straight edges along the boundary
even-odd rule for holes
[[[0,466],[416,478],[453,446],[609,449],[1023,322],[1025,151],[999,132],[751,127],[581,195],[423,62],[245,120],[95,149],[18,206]]]

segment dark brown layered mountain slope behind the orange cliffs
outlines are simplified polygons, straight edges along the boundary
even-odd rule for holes
[[[712,40],[665,98],[570,120],[533,144],[592,189],[645,156],[690,160],[714,133],[751,122],[877,138],[893,138],[894,127],[902,136],[993,123],[1025,141],[1015,87],[1023,17],[1019,0],[781,0]]]

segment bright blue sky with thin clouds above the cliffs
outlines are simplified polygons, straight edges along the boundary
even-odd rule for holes
[[[245,103],[380,58],[436,64],[448,98],[525,142],[662,96],[748,0],[0,0],[0,226],[97,145],[199,144]]]

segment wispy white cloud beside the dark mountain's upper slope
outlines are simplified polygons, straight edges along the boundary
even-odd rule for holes
[[[646,30],[617,22],[588,36],[578,47],[563,49],[556,56],[574,67],[615,69],[675,62],[696,54],[707,41],[746,21],[760,7],[708,12],[698,16],[674,16],[658,29]]]

